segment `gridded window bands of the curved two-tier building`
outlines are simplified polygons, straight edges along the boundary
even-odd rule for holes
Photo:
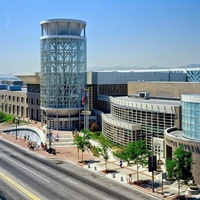
[[[153,137],[157,138],[164,138],[164,130],[166,128],[173,127],[175,125],[175,114],[169,114],[169,113],[159,113],[159,112],[149,112],[144,110],[134,110],[127,107],[118,107],[115,104],[111,104],[111,114],[114,118],[130,122],[130,123],[140,123],[142,124],[142,129],[140,131],[140,137],[143,139],[146,139],[147,148],[151,149],[152,147],[152,135]],[[110,139],[114,140],[116,143],[120,143],[118,141],[118,138],[114,138],[113,134],[120,134],[119,139],[121,136],[122,143],[121,145],[125,145],[125,142],[123,141],[123,134],[128,135],[129,130],[125,130],[123,128],[115,128],[111,125],[107,124],[103,120],[102,122],[103,127],[102,131],[105,136]],[[115,130],[116,129],[116,130]],[[159,150],[156,150],[159,152]]]

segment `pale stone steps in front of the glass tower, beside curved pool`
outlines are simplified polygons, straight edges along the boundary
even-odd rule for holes
[[[59,140],[54,140],[51,144],[52,147],[65,147],[69,145],[73,145],[74,140],[72,135],[62,135],[59,136]]]

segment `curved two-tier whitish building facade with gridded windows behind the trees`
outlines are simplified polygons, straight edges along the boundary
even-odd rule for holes
[[[110,103],[111,114],[102,114],[103,135],[122,146],[145,139],[148,149],[153,146],[155,154],[164,157],[164,130],[180,126],[181,102],[110,97]]]

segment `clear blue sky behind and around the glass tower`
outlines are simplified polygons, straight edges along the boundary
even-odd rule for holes
[[[199,0],[0,0],[0,74],[40,71],[40,22],[86,21],[87,66],[200,64]]]

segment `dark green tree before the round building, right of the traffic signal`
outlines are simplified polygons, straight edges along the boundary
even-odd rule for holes
[[[167,173],[178,182],[178,197],[180,195],[180,180],[192,180],[192,153],[184,151],[183,146],[178,147],[171,160],[167,160]]]

